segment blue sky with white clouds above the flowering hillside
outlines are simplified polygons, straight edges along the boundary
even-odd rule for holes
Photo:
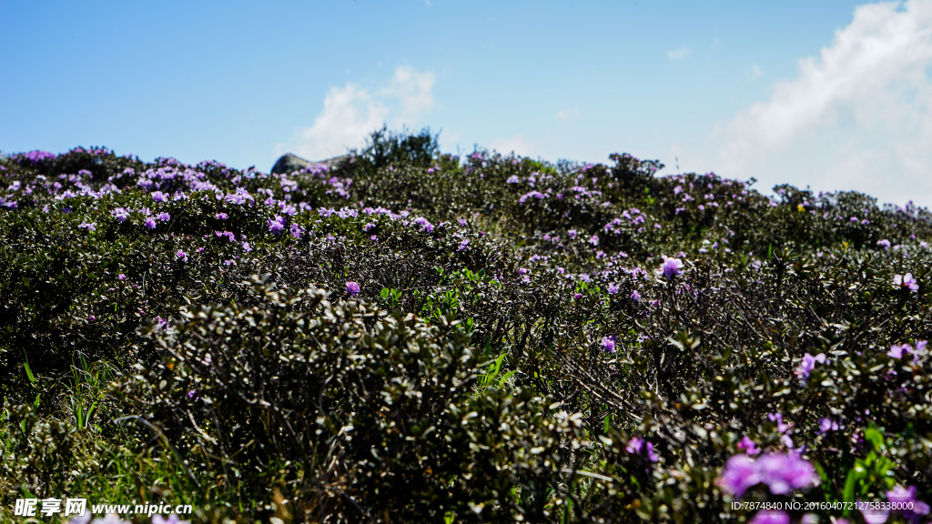
[[[267,171],[386,123],[932,206],[932,0],[0,0],[0,21],[4,152]]]

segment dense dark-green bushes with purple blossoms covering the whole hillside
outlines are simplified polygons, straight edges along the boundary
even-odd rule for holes
[[[3,507],[920,518],[932,216],[610,160],[0,160]]]

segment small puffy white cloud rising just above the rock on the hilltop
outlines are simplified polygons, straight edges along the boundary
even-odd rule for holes
[[[310,160],[330,159],[364,145],[383,124],[394,129],[417,125],[433,107],[434,76],[406,65],[394,73],[387,86],[373,91],[353,83],[332,88],[313,125],[296,131],[291,142],[276,145],[275,154],[288,151]]]

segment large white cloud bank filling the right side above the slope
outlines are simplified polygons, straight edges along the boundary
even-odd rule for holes
[[[713,133],[721,173],[932,205],[932,0],[857,7],[797,78]]]

